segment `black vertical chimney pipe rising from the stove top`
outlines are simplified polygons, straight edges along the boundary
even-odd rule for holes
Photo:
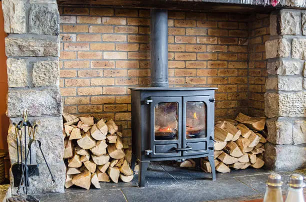
[[[168,87],[168,11],[151,8],[151,86]]]

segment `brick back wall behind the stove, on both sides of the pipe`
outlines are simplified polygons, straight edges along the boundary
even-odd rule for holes
[[[150,84],[149,10],[59,11],[64,111],[110,117],[130,136],[128,87]],[[168,13],[169,84],[218,87],[217,118],[247,113],[248,17]]]

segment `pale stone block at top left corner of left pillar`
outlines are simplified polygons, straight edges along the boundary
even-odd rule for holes
[[[26,0],[2,0],[4,31],[6,33],[25,33]]]

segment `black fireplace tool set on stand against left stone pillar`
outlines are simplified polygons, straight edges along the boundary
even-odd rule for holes
[[[14,178],[14,187],[18,187],[17,194],[18,195],[20,194],[20,189],[22,188],[23,193],[27,195],[27,187],[29,187],[28,177],[39,176],[39,170],[38,170],[39,164],[32,164],[31,146],[33,142],[38,143],[39,150],[49,170],[51,179],[53,183],[55,183],[51,170],[41,150],[41,142],[36,139],[36,130],[37,130],[38,125],[37,124],[31,125],[31,123],[27,121],[27,110],[26,109],[23,110],[23,120],[19,121],[18,124],[13,123],[13,126],[15,129],[15,137],[16,137],[17,163],[14,163],[11,166],[11,171],[12,171],[13,178]],[[26,135],[28,135],[29,137],[28,144],[26,144]],[[22,155],[22,152],[23,152],[22,140],[23,139],[24,139],[24,156]],[[28,150],[26,150],[26,145],[27,145]],[[22,156],[24,157],[24,162],[23,162]],[[29,158],[29,164],[27,164],[28,158]],[[35,198],[31,196],[27,196],[26,200],[27,201],[37,201]]]

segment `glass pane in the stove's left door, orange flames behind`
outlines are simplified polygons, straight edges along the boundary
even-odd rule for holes
[[[154,140],[177,140],[177,102],[159,102],[154,106]]]

